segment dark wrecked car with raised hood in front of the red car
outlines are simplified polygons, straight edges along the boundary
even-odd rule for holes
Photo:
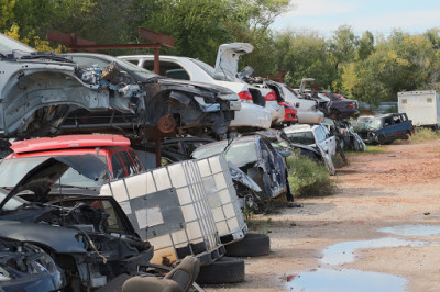
[[[123,273],[136,274],[148,265],[153,247],[139,237],[113,198],[78,193],[80,187],[76,192],[59,189],[59,179],[70,168],[95,181],[110,176],[95,155],[51,157],[15,173],[21,178],[15,186],[1,186],[0,237],[32,243],[51,255],[65,276],[63,288],[70,291],[94,290]],[[10,177],[3,164],[0,171]]]

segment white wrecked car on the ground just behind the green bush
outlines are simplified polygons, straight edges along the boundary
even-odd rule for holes
[[[337,139],[323,125],[292,125],[285,127],[288,139],[292,143],[316,147],[321,153],[330,175],[334,176],[332,156],[337,153]]]

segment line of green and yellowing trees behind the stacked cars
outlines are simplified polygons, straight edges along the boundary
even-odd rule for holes
[[[316,31],[274,31],[271,24],[292,0],[0,0],[0,32],[38,50],[62,52],[46,41],[48,30],[76,33],[97,44],[141,43],[144,26],[176,38],[161,54],[199,58],[213,65],[220,44],[246,42],[255,50],[241,65],[255,75],[286,71],[299,87],[314,77],[324,90],[377,104],[404,90],[438,89],[439,29],[422,34],[356,35],[340,26],[331,36]],[[312,27],[311,27],[312,29]],[[111,55],[151,54],[147,49],[108,50]],[[241,67],[242,67],[241,66]]]

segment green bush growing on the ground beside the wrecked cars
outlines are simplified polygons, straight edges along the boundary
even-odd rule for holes
[[[304,156],[288,157],[288,181],[294,196],[329,195],[333,193],[334,181],[330,179],[326,166]]]

